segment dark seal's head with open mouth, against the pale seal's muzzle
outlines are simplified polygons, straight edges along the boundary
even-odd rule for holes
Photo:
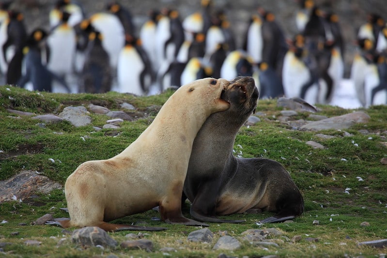
[[[228,112],[235,112],[246,119],[255,114],[258,97],[259,92],[254,78],[250,76],[235,77],[221,95],[223,100],[230,103]]]

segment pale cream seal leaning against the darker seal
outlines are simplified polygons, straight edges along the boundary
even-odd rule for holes
[[[167,223],[208,226],[182,215],[181,195],[193,140],[210,114],[229,108],[220,99],[228,85],[225,79],[205,78],[180,87],[123,152],[77,167],[64,186],[70,219],[57,224],[106,231],[165,229],[108,223],[158,205]]]

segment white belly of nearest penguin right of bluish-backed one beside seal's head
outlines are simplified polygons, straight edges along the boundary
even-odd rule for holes
[[[282,85],[285,96],[288,98],[300,97],[301,88],[308,81],[310,81],[310,71],[308,67],[302,61],[297,59],[293,52],[288,51],[284,57],[282,67]],[[313,92],[309,93],[311,94]]]

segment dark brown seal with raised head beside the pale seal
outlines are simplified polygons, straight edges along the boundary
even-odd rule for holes
[[[303,197],[281,164],[265,158],[236,158],[232,153],[240,127],[255,113],[258,96],[252,77],[236,77],[222,93],[230,108],[212,114],[198,132],[184,184],[193,218],[241,222],[216,215],[248,209],[277,212],[261,220],[269,223],[292,219],[303,212]]]

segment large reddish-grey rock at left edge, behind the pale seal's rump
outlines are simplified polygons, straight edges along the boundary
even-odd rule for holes
[[[62,185],[36,171],[25,170],[8,180],[0,181],[0,203],[15,198],[24,200],[39,192],[48,194],[54,189],[62,189]]]

